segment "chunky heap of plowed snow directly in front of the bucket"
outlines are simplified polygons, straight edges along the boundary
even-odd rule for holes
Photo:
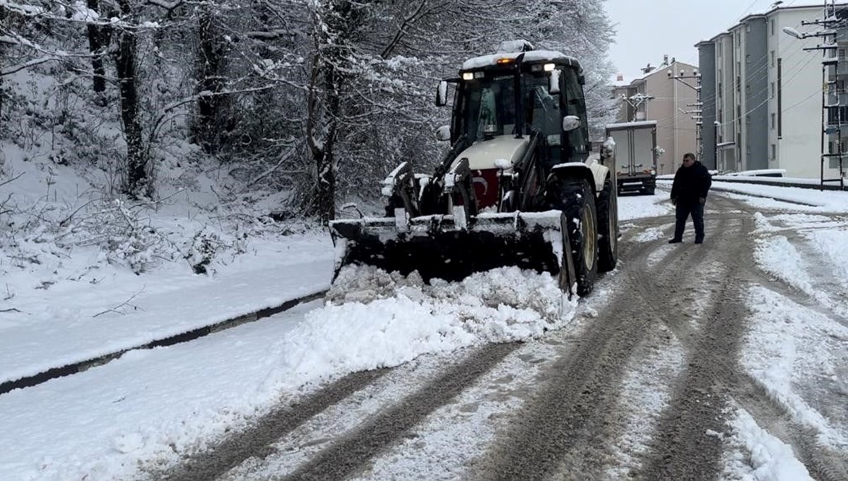
[[[282,341],[294,373],[396,366],[427,352],[538,337],[574,316],[550,274],[497,268],[461,282],[349,266]],[[299,377],[299,376],[298,376]]]

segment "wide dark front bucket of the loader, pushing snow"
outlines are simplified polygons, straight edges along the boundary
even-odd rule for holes
[[[465,219],[463,219],[465,220]],[[571,296],[576,278],[560,211],[483,213],[465,223],[452,215],[336,220],[330,224],[336,246],[333,279],[349,264],[370,265],[408,275],[457,281],[493,268],[517,266],[559,278]],[[466,225],[460,225],[466,224]]]

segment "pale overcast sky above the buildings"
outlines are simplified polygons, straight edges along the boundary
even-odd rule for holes
[[[641,76],[639,69],[657,65],[662,55],[698,63],[695,43],[717,36],[747,14],[771,9],[775,0],[606,0],[616,26],[612,62],[624,80]],[[816,0],[784,0],[783,7],[820,4]]]

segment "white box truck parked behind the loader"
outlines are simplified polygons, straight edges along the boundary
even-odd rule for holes
[[[649,196],[656,189],[656,120],[608,124],[606,136],[616,142],[618,193]]]

